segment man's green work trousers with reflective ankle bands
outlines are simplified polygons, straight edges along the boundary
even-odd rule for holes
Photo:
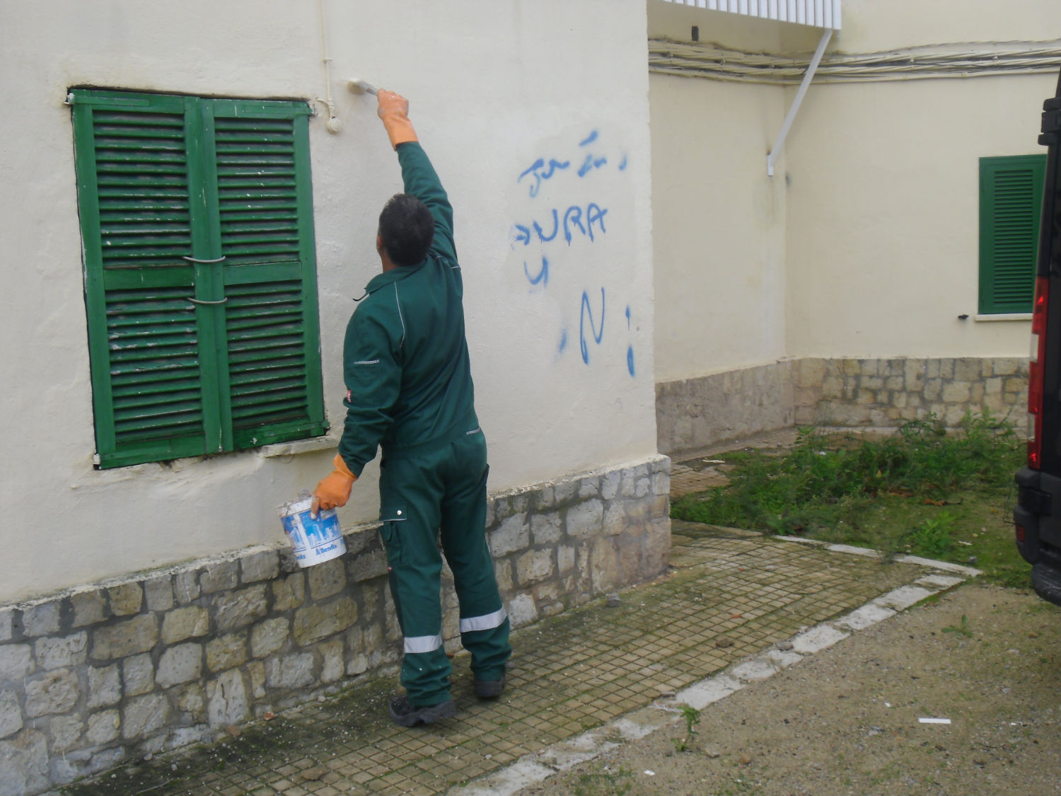
[[[416,457],[384,456],[380,474],[380,535],[387,551],[390,593],[405,656],[401,683],[414,705],[450,698],[450,661],[441,644],[442,559],[460,603],[460,640],[480,679],[500,679],[508,660],[508,619],[486,543],[486,442],[462,436]]]

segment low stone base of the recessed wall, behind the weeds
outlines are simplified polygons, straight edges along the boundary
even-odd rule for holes
[[[1028,362],[1015,358],[785,360],[656,385],[659,450],[692,451],[788,426],[891,428],[988,410],[1024,432]]]

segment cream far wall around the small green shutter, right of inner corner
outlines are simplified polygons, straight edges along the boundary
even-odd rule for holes
[[[830,49],[1059,37],[1055,0],[848,0]],[[1027,354],[1029,322],[974,319],[979,158],[1044,153],[1056,85],[1057,72],[811,87],[785,153],[789,353]]]

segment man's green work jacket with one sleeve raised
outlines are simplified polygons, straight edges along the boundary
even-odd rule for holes
[[[441,448],[479,428],[465,340],[453,208],[419,143],[398,145],[405,193],[435,219],[428,257],[375,277],[346,327],[346,425],[338,452],[354,475],[376,457]]]

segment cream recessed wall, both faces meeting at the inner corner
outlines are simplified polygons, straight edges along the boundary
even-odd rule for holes
[[[654,35],[808,52],[821,31],[648,0]],[[1056,0],[845,0],[829,51],[1061,37]],[[650,75],[657,379],[785,357],[1020,357],[976,322],[978,159],[1043,152],[1057,73],[814,84]],[[958,315],[970,319],[959,321]]]

